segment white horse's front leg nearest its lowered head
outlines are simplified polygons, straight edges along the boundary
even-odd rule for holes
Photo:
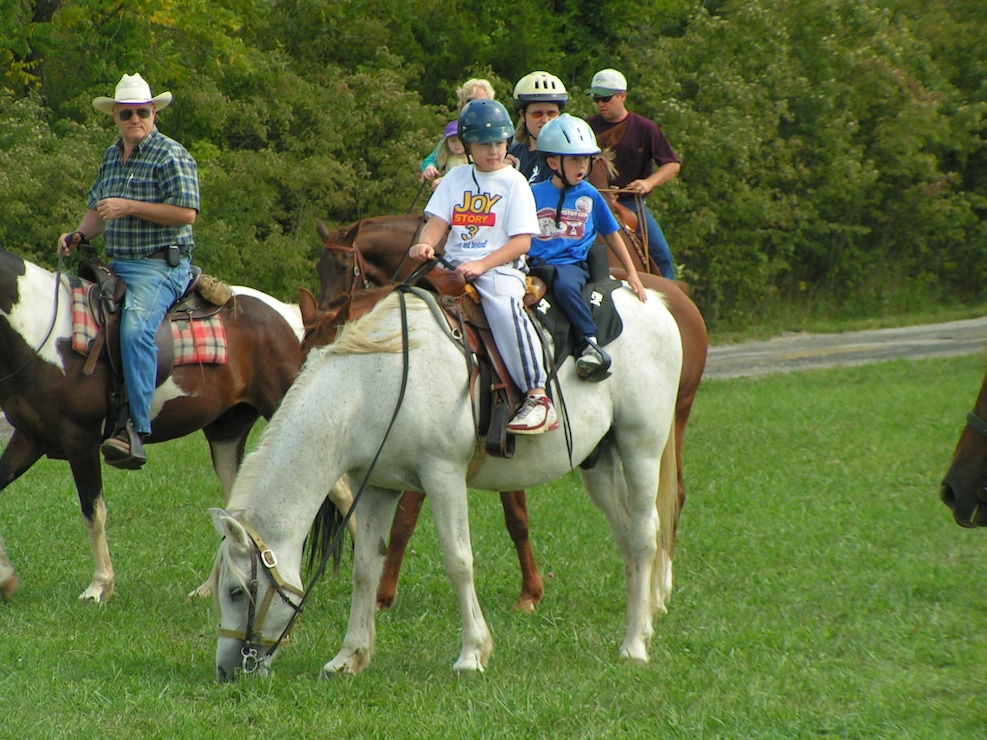
[[[374,598],[384,564],[387,530],[398,496],[368,486],[357,505],[357,536],[353,548],[353,598],[343,646],[322,666],[322,677],[356,675],[370,665],[377,635]]]

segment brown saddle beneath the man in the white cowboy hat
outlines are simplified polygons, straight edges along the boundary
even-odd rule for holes
[[[86,298],[96,321],[96,336],[91,342],[82,372],[84,375],[92,375],[100,360],[106,360],[112,370],[107,389],[108,413],[104,429],[104,435],[108,437],[126,425],[126,419],[121,417],[121,412],[127,408],[127,400],[120,349],[120,318],[127,285],[96,256],[90,245],[81,245],[80,249],[83,257],[79,263],[78,275],[81,280],[92,283]],[[201,268],[192,267],[185,292],[168,309],[155,335],[154,341],[158,348],[156,386],[161,385],[174,369],[172,322],[215,316],[230,297],[232,290],[228,285],[210,275],[203,275]]]

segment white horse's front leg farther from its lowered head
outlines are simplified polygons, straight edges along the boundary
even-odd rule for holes
[[[459,673],[482,673],[493,652],[493,638],[480,610],[473,581],[465,476],[446,477],[434,485],[422,482],[431,492],[429,502],[442,545],[442,562],[456,592],[462,620],[462,651],[452,668]]]

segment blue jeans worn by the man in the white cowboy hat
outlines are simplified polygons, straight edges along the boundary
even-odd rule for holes
[[[151,433],[151,397],[158,371],[154,336],[165,314],[188,285],[190,264],[177,267],[158,259],[113,260],[110,269],[127,283],[120,323],[123,381],[134,430]]]

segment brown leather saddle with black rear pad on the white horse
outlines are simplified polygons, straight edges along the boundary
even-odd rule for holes
[[[590,280],[584,294],[590,300],[599,329],[597,339],[603,346],[620,334],[623,324],[610,298],[620,283],[610,278],[606,247],[599,246],[600,249],[594,247],[590,250],[593,255]],[[551,359],[550,375],[555,375],[566,356],[575,353],[575,338],[568,318],[554,305],[550,293],[554,269],[550,265],[533,267],[530,273],[524,303],[536,323],[552,336],[555,355]],[[418,284],[439,296],[438,304],[451,331],[461,337],[467,350],[471,395],[474,389],[479,389],[473,399],[477,409],[476,430],[477,435],[485,439],[487,454],[512,457],[516,438],[507,432],[507,423],[521,403],[523,393],[507,372],[480,306],[479,296],[472,286],[466,284],[462,275],[440,267],[433,268]]]

